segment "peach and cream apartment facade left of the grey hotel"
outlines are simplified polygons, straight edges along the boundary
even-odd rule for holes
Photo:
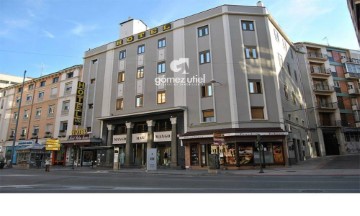
[[[20,148],[34,143],[45,144],[46,139],[52,137],[66,140],[71,135],[76,89],[81,77],[82,65],[75,65],[26,81],[24,86],[17,84],[0,90],[0,100],[4,104],[0,107],[0,139],[7,159],[11,158],[14,139],[16,148]],[[65,148],[53,151],[51,158],[53,164],[64,165]],[[16,163],[16,152],[13,163]]]

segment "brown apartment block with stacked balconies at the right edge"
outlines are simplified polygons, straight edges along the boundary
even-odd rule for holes
[[[317,156],[359,152],[359,62],[349,58],[348,49],[309,42],[297,46],[303,51],[300,65]]]

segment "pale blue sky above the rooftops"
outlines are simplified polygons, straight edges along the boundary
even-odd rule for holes
[[[83,63],[128,17],[158,26],[222,4],[257,0],[0,0],[0,73],[39,77]],[[346,0],[263,0],[293,42],[359,49]],[[43,68],[43,69],[42,69]]]

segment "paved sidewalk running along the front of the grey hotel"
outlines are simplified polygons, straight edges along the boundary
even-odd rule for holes
[[[351,160],[349,160],[351,158]],[[347,159],[347,160],[344,160]],[[342,163],[342,167],[334,166],[337,161],[346,161],[347,164]],[[356,169],[354,169],[354,163],[358,163]],[[336,168],[332,168],[336,167]],[[349,167],[349,168],[347,168]],[[263,171],[259,173],[259,167],[252,169],[219,169],[208,170],[204,169],[172,169],[172,168],[159,168],[154,171],[147,171],[144,168],[120,168],[119,170],[113,170],[111,168],[104,167],[57,167],[50,168],[51,172],[57,171],[74,171],[81,173],[129,173],[129,174],[158,174],[158,175],[190,175],[190,176],[202,176],[202,175],[239,175],[239,176],[301,176],[301,175],[339,175],[339,176],[360,176],[360,154],[357,155],[336,155],[325,156],[319,158],[312,158],[305,161],[301,161],[295,165],[288,167],[271,167],[266,166]],[[31,169],[42,170],[42,169]]]

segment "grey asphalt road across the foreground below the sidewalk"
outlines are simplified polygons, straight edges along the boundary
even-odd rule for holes
[[[359,193],[358,175],[239,176],[0,170],[1,193]]]

